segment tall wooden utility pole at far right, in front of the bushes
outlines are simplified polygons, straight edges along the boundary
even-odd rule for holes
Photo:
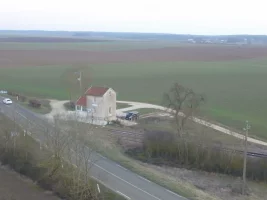
[[[242,185],[242,195],[245,195],[246,190],[246,177],[247,177],[247,154],[248,154],[248,131],[250,130],[251,126],[249,125],[248,121],[246,121],[246,127],[244,128],[245,131],[245,141],[244,141],[244,164],[243,164],[243,185]]]

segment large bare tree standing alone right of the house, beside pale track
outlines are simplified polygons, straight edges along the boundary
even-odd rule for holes
[[[167,112],[174,116],[179,137],[184,132],[186,120],[196,112],[204,101],[204,95],[197,94],[192,89],[185,88],[178,83],[175,83],[164,94],[163,104],[167,107]]]

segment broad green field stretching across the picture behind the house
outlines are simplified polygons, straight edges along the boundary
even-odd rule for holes
[[[166,43],[164,43],[166,45]],[[7,45],[7,44],[6,44]],[[13,44],[10,44],[12,48]],[[17,46],[16,48],[26,48]],[[38,44],[27,44],[38,48]],[[40,46],[48,44],[40,44]],[[63,44],[76,48],[77,44]],[[95,49],[101,47],[97,44]],[[83,46],[81,45],[81,46]],[[107,43],[102,45],[108,45]],[[130,43],[113,43],[128,48]],[[132,46],[132,48],[145,48]],[[162,44],[163,45],[163,44]],[[40,47],[39,46],[39,47]],[[53,45],[55,46],[55,45]],[[80,48],[81,46],[78,45]],[[160,43],[154,45],[160,46]],[[58,48],[63,48],[58,47]],[[91,46],[92,47],[92,46]],[[153,46],[151,48],[154,48]],[[7,47],[1,47],[6,48]],[[15,48],[15,47],[14,47]],[[111,49],[112,49],[111,48]],[[147,48],[147,46],[146,46]],[[101,49],[101,48],[100,48]],[[107,50],[107,49],[106,49]],[[68,87],[63,74],[84,66],[48,65],[0,68],[0,90],[15,90],[30,96],[67,99]],[[252,125],[254,137],[267,140],[267,58],[221,62],[142,62],[90,65],[88,86],[109,86],[117,91],[119,100],[162,103],[163,93],[178,82],[207,96],[203,114],[228,126],[242,130],[245,120]],[[86,74],[85,74],[86,75]],[[78,94],[78,83],[76,85]],[[73,94],[73,96],[75,96]]]

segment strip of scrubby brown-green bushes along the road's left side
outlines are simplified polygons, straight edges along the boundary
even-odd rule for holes
[[[66,200],[96,200],[98,198],[95,184],[87,179],[88,174],[83,173],[83,168],[74,168],[60,157],[53,158],[53,151],[39,150],[39,143],[29,136],[24,136],[23,130],[16,127],[19,135],[14,142],[13,137],[8,137],[14,129],[14,123],[0,115],[0,134],[5,140],[0,140],[0,162],[8,165],[13,170],[28,176],[39,186],[53,191],[61,199]],[[62,163],[63,162],[63,163]],[[64,168],[62,168],[64,164]],[[85,178],[86,177],[86,178]],[[109,195],[105,191],[103,195]],[[105,198],[106,199],[106,198]],[[108,198],[110,200],[124,199],[116,195]]]

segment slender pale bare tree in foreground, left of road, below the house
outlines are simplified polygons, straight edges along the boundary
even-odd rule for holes
[[[71,199],[78,200],[95,200],[97,193],[92,189],[90,179],[90,168],[95,162],[92,158],[93,150],[88,148],[83,140],[88,129],[80,126],[78,119],[65,118],[62,125],[65,127],[64,132],[69,136],[70,142],[66,148],[66,154],[71,166],[66,175],[64,186],[70,191]]]

